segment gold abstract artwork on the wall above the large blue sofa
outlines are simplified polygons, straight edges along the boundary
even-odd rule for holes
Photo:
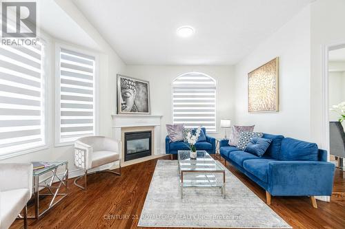
[[[248,73],[248,112],[279,111],[279,57]]]

